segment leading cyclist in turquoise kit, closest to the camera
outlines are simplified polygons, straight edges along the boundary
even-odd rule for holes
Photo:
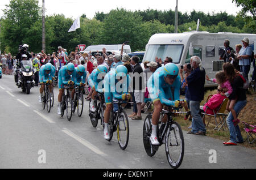
[[[150,141],[152,145],[159,145],[157,130],[162,112],[163,105],[178,107],[184,105],[180,98],[180,76],[179,68],[174,63],[158,68],[148,79],[147,87],[150,97],[154,103],[154,113],[152,114],[152,134]],[[174,96],[172,96],[171,88],[174,88]],[[162,122],[166,123],[167,117],[164,117]]]

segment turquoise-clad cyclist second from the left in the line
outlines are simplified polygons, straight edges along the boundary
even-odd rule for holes
[[[68,63],[66,66],[62,66],[59,70],[58,75],[58,85],[59,85],[59,96],[58,96],[58,114],[61,114],[61,100],[64,93],[64,85],[71,84],[75,82],[75,65],[73,63]],[[72,88],[72,87],[71,87]],[[70,89],[72,91],[73,89]]]

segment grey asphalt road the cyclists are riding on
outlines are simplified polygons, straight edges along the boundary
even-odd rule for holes
[[[143,120],[129,119],[129,144],[122,151],[116,134],[111,142],[107,142],[102,127],[92,127],[89,101],[85,101],[81,118],[76,113],[71,122],[65,115],[60,118],[56,105],[58,91],[55,88],[55,105],[48,113],[38,102],[39,87],[32,88],[31,94],[26,95],[16,87],[13,75],[3,75],[0,79],[0,168],[171,168],[164,145],[154,157],[147,156],[144,151]],[[130,113],[131,110],[127,110],[127,114]],[[145,116],[143,114],[143,118]],[[256,151],[253,149],[239,145],[227,147],[221,140],[187,135],[185,131],[183,134],[185,153],[180,168],[256,168]],[[209,161],[212,150],[216,152],[216,163]]]

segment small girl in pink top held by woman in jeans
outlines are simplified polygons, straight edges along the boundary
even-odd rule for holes
[[[209,79],[209,76],[206,76],[206,79],[208,81],[212,81],[214,83],[218,83],[220,84],[222,89],[227,89],[226,93],[221,93],[221,95],[225,95],[226,97],[229,98],[228,104],[226,106],[227,110],[230,110],[230,112],[232,113],[234,120],[233,122],[237,122],[239,121],[239,119],[237,119],[237,114],[236,111],[234,110],[234,105],[236,104],[237,98],[234,97],[233,92],[233,88],[232,85],[230,84],[229,80],[227,80],[226,75],[223,71],[221,72],[217,72],[217,74],[215,75],[216,79]]]

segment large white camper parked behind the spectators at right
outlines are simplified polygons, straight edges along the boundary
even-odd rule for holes
[[[255,54],[256,35],[238,33],[209,33],[209,32],[185,32],[173,34],[156,34],[151,36],[146,45],[146,53],[143,61],[155,61],[155,57],[165,59],[171,57],[177,66],[190,62],[193,55],[202,59],[203,67],[210,78],[215,78],[216,72],[222,70],[223,60],[220,55],[223,52],[224,40],[230,41],[230,47],[235,49],[237,44],[242,45],[243,38],[249,38],[250,46]],[[253,67],[249,73],[252,74]],[[212,82],[205,82],[205,87],[216,86]]]

